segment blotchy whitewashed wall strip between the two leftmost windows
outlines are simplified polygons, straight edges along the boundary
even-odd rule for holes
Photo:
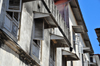
[[[30,4],[30,5],[29,5]],[[33,28],[33,13],[32,13],[32,3],[24,3],[21,14],[21,26],[19,34],[19,45],[28,54],[30,52],[30,44],[32,39],[32,28]],[[28,10],[30,8],[30,10]]]

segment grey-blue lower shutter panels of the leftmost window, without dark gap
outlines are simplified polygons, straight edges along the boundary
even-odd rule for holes
[[[8,14],[5,16],[4,28],[8,30],[13,36],[16,38],[18,33],[19,23],[15,21],[13,17],[9,16]]]

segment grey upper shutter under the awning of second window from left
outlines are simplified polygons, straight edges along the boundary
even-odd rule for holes
[[[34,21],[34,39],[43,40],[44,22],[43,19],[35,19]]]

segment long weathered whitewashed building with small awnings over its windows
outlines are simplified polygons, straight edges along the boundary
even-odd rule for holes
[[[97,66],[78,1],[65,5],[0,0],[0,66]]]

